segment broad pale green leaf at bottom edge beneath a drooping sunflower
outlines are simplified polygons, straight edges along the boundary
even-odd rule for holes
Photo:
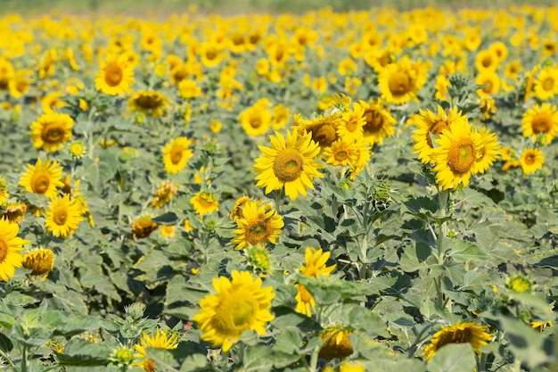
[[[448,343],[428,362],[428,372],[464,372],[475,368],[475,353],[470,343]]]

